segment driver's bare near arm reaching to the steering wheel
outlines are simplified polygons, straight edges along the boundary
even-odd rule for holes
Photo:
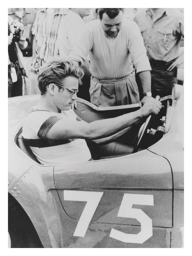
[[[94,140],[109,137],[150,114],[158,114],[160,109],[161,103],[151,98],[141,109],[115,118],[97,120],[91,123],[61,119],[50,128],[45,138],[52,140],[68,138]]]

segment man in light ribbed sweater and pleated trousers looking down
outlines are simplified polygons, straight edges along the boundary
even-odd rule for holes
[[[82,65],[90,58],[90,97],[96,106],[118,106],[139,102],[134,67],[143,99],[151,96],[150,64],[134,21],[124,18],[122,8],[99,8],[99,19],[84,25],[69,58]],[[134,67],[133,67],[134,65]]]

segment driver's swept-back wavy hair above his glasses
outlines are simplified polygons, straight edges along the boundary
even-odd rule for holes
[[[62,84],[63,79],[67,76],[75,76],[79,80],[79,84],[81,85],[81,79],[84,75],[82,69],[75,65],[71,61],[64,60],[55,60],[45,62],[43,66],[41,66],[39,74],[37,76],[38,86],[41,92],[41,95],[45,95],[47,91],[47,87],[49,84]],[[63,90],[59,87],[59,90]]]

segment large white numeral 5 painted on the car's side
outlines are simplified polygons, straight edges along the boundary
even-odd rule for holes
[[[126,234],[116,229],[111,229],[110,237],[125,243],[144,243],[152,237],[152,220],[141,209],[132,208],[133,204],[154,205],[153,195],[124,194],[117,217],[137,219],[141,224],[138,234]]]

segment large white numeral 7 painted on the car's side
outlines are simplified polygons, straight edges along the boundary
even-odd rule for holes
[[[103,192],[64,190],[64,200],[87,202],[76,226],[74,236],[84,237]]]

